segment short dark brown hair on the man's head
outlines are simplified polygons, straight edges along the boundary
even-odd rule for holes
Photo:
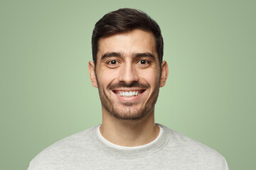
[[[92,31],[92,60],[97,62],[98,41],[102,37],[124,33],[134,29],[146,30],[153,33],[156,42],[156,52],[159,63],[164,55],[164,40],[159,25],[149,15],[134,8],[119,8],[105,14]]]

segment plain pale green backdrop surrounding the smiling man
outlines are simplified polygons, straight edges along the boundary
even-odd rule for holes
[[[117,8],[159,23],[169,79],[156,122],[255,169],[255,1],[0,1],[0,169],[101,123],[91,86],[94,24]]]

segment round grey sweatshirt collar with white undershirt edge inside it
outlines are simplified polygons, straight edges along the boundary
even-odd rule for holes
[[[92,139],[92,143],[100,149],[101,152],[105,154],[112,155],[114,157],[122,158],[122,159],[134,159],[137,157],[144,157],[147,154],[152,154],[154,152],[158,152],[161,148],[163,148],[169,140],[171,130],[166,128],[164,125],[159,125],[162,132],[159,132],[159,136],[149,144],[142,145],[139,147],[120,147],[118,145],[114,145],[110,142],[106,142],[104,137],[100,136],[98,128],[92,128],[90,136]]]

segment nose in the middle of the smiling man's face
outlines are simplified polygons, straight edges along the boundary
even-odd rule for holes
[[[139,81],[137,70],[132,64],[124,64],[119,73],[119,82],[132,84],[134,81]]]

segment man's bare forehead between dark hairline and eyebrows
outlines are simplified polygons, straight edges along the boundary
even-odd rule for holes
[[[126,56],[149,52],[157,57],[154,35],[144,30],[136,29],[100,38],[98,45],[97,60],[107,52],[119,52]]]

